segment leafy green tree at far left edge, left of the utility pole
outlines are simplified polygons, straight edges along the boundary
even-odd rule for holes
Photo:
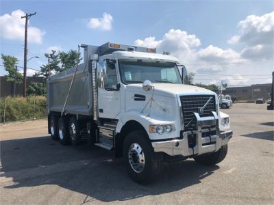
[[[17,62],[18,59],[11,55],[3,55],[1,54],[1,59],[3,60],[3,65],[5,67],[5,71],[8,72],[7,81],[12,82],[12,96],[15,96],[16,83],[21,84],[23,82],[23,75],[18,72]]]

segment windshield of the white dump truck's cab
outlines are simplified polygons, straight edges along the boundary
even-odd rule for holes
[[[182,84],[175,63],[142,60],[119,60],[119,63],[121,79],[125,84],[142,83],[145,80],[152,83]]]

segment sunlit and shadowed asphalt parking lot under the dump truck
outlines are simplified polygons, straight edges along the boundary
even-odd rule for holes
[[[1,204],[274,204],[274,111],[222,111],[234,131],[225,160],[166,164],[147,186],[130,180],[110,151],[52,141],[46,120],[1,125]]]

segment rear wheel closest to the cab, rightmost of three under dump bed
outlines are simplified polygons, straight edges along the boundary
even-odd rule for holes
[[[69,120],[69,139],[73,146],[77,146],[81,142],[80,129],[79,120],[72,117]]]

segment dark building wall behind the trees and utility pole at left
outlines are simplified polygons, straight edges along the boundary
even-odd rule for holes
[[[0,77],[0,97],[12,95],[13,83],[8,82],[6,79],[7,77],[5,76]],[[45,81],[44,77],[27,77],[27,87],[29,86],[29,83],[31,82],[42,83],[43,81]],[[16,96],[23,96],[23,83],[21,83],[20,85],[16,84],[15,94]]]

